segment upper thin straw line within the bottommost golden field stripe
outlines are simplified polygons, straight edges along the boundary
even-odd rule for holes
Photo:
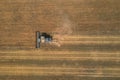
[[[7,66],[0,66],[0,69],[1,70],[4,70],[6,69],[10,69],[10,70],[82,70],[82,71],[91,71],[91,70],[99,70],[100,68],[84,68],[84,67],[79,67],[79,68],[72,68],[72,67],[26,67],[26,66],[10,66],[10,65],[7,65]],[[120,71],[120,68],[102,68],[101,70],[107,70],[107,71]]]

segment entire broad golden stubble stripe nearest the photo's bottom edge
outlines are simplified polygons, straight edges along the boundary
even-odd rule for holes
[[[88,75],[88,76],[118,76],[120,74],[119,68],[103,68],[103,69],[87,69],[87,68],[63,68],[63,67],[0,67],[1,75]],[[104,73],[103,73],[104,72]]]

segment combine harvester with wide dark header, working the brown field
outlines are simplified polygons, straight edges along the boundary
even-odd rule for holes
[[[52,36],[45,32],[36,32],[36,48],[40,48],[41,43],[50,43],[52,42]]]

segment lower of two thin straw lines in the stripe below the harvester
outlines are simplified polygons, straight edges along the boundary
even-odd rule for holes
[[[58,56],[0,56],[0,59],[34,59],[34,60],[83,60],[83,59],[94,59],[94,60],[120,60],[120,57],[58,57]]]

